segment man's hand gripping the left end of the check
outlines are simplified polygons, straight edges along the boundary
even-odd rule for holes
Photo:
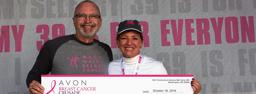
[[[29,93],[30,94],[43,94],[44,87],[38,81],[33,80],[29,84]]]

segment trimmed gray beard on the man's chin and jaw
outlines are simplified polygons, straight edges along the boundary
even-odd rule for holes
[[[98,28],[97,26],[95,27],[95,29],[90,32],[91,30],[83,30],[80,27],[75,27],[75,30],[78,31],[81,35],[83,35],[84,37],[92,37],[94,36],[100,28]]]

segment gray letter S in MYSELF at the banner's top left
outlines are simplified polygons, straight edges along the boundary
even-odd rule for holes
[[[38,0],[40,2],[44,0]],[[44,5],[37,2],[36,0],[31,0],[30,1],[33,6],[36,8],[31,8],[31,17],[32,18],[43,18],[44,17]],[[38,11],[37,11],[38,8]]]

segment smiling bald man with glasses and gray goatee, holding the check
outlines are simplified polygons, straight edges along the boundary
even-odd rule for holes
[[[111,48],[94,39],[101,27],[101,14],[92,1],[77,5],[73,23],[76,34],[47,41],[41,48],[35,65],[27,76],[30,94],[44,93],[41,75],[101,75],[107,74],[113,60]]]

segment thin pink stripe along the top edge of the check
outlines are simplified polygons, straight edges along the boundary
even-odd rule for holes
[[[193,77],[193,75],[41,75],[42,77]]]

